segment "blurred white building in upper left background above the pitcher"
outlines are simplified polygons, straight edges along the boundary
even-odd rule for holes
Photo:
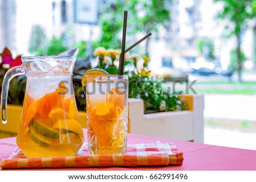
[[[73,9],[73,0],[0,0],[0,50],[7,46],[14,54],[31,54],[28,47],[35,25],[44,29],[48,40],[62,37],[67,46],[97,39],[99,28],[74,23]]]

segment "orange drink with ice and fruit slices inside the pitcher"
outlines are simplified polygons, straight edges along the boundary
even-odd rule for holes
[[[82,146],[84,136],[71,84],[70,75],[27,77],[16,139],[26,156],[73,156]]]

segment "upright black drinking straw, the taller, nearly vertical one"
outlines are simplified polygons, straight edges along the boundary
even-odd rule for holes
[[[118,75],[123,75],[123,67],[125,64],[125,40],[126,40],[126,27],[127,27],[127,13],[128,11],[125,11],[123,15],[123,38],[122,38],[122,50],[120,54]]]

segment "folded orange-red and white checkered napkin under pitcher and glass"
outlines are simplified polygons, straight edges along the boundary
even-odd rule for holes
[[[183,153],[177,153],[174,143],[139,143],[127,146],[125,155],[88,155],[84,144],[76,156],[26,158],[16,148],[9,159],[1,160],[2,168],[65,168],[112,166],[167,166],[181,165]]]

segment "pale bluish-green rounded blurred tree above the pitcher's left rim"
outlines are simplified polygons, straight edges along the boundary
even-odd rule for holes
[[[47,39],[44,28],[40,25],[34,25],[31,28],[31,36],[30,36],[30,45],[29,52],[31,53],[39,53],[42,51],[42,48],[46,46]]]

